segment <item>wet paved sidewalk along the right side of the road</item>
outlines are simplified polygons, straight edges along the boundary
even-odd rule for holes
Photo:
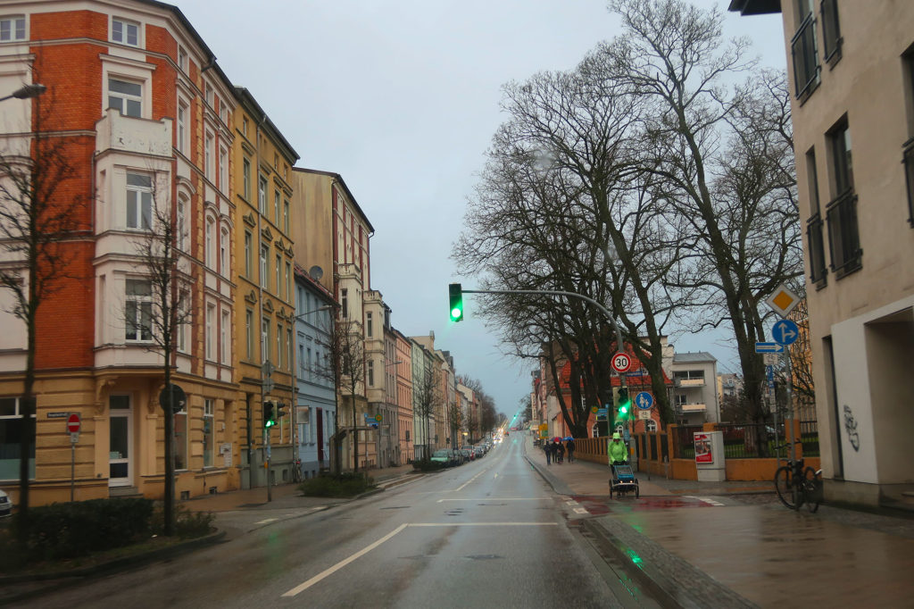
[[[603,515],[581,518],[581,528],[598,540],[600,550],[632,565],[643,585],[669,604],[911,605],[912,519],[830,506],[816,514],[794,512],[776,500],[743,505],[740,494],[765,493],[765,484],[647,480],[645,474],[636,474],[640,499],[610,499],[606,466],[547,466],[529,437],[525,449],[527,460],[556,492],[599,499]],[[676,496],[721,502],[715,502],[718,507],[694,498],[687,504],[656,498]]]

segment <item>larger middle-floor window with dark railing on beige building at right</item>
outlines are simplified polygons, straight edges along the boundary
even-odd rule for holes
[[[827,137],[832,153],[836,197],[825,208],[825,219],[828,222],[828,248],[832,259],[832,271],[840,279],[859,269],[863,256],[857,227],[851,132],[846,119],[838,123]]]

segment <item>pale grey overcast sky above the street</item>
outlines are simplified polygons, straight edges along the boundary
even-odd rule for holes
[[[465,297],[448,317],[450,260],[467,198],[497,126],[501,87],[572,69],[619,32],[604,0],[177,0],[232,83],[247,87],[301,155],[339,173],[375,227],[372,289],[407,336],[435,333],[458,374],[483,383],[512,416],[530,391],[529,362],[503,355]],[[729,0],[694,0],[726,11]],[[762,63],[784,68],[781,16],[728,14]],[[687,328],[684,328],[687,330]],[[720,335],[674,335],[736,371]]]

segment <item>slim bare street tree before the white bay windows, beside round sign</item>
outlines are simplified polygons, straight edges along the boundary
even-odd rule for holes
[[[176,403],[177,389],[172,383],[172,370],[179,333],[193,321],[191,293],[193,278],[188,265],[182,269],[182,245],[186,243],[186,229],[179,223],[177,210],[171,205],[167,184],[160,187],[165,178],[158,173],[148,177],[149,191],[139,195],[141,236],[134,238],[135,266],[145,279],[128,285],[128,294],[145,300],[128,301],[124,304],[123,319],[127,336],[148,341],[146,350],[162,356],[162,372],[165,388],[165,535],[175,534],[175,412],[183,410],[185,404]],[[208,339],[208,337],[207,337]]]

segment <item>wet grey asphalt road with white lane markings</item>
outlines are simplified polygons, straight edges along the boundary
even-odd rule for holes
[[[565,509],[509,439],[381,495],[19,606],[656,606]]]

